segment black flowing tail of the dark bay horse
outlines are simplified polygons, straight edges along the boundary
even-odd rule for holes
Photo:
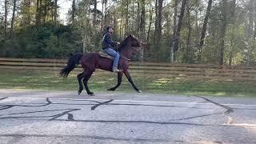
[[[82,54],[74,54],[71,56],[66,64],[66,67],[64,67],[59,74],[66,78],[70,74],[70,71],[74,70],[75,66],[80,63],[81,58]]]

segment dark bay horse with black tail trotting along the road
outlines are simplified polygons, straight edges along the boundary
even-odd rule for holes
[[[134,85],[134,82],[128,72],[128,60],[131,58],[133,52],[138,51],[142,45],[145,44],[137,38],[134,38],[132,35],[129,35],[123,42],[121,42],[121,45],[118,48],[118,52],[121,54],[118,69],[123,71],[118,73],[118,84],[108,90],[116,90],[122,83],[122,74],[125,74],[130,84],[134,87],[134,90],[136,90],[138,93],[141,93],[141,90],[139,90],[138,87]],[[113,60],[110,58],[102,58],[102,56],[100,56],[98,53],[75,54],[70,57],[67,62],[67,66],[61,70],[60,74],[62,77],[67,77],[70,71],[74,70],[76,65],[79,63],[81,64],[84,71],[77,76],[79,83],[78,95],[81,94],[83,90],[82,82],[86,88],[87,94],[94,95],[94,93],[89,90],[87,85],[90,76],[96,69],[112,71]]]

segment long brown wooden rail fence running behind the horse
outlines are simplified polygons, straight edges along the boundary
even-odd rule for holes
[[[60,70],[66,59],[0,58],[0,69]],[[211,79],[218,81],[256,82],[256,66],[189,65],[154,62],[130,62],[130,72],[135,75]],[[98,70],[97,73],[106,73]]]

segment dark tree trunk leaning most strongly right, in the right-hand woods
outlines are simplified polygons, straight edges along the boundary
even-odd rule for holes
[[[200,42],[198,45],[198,52],[199,52],[198,62],[201,62],[201,59],[202,59],[202,46],[204,45],[204,41],[206,38],[206,28],[207,28],[208,19],[210,16],[210,9],[211,9],[212,3],[213,3],[213,0],[209,0],[207,10],[206,10],[206,17],[205,17],[205,19],[203,21],[203,25],[202,25],[202,33],[201,33],[201,38],[200,38]]]

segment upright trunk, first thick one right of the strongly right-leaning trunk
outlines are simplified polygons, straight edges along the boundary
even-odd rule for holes
[[[222,0],[221,50],[220,50],[219,65],[224,64],[225,36],[226,36],[226,26],[227,26],[226,5],[227,5],[227,0]]]

